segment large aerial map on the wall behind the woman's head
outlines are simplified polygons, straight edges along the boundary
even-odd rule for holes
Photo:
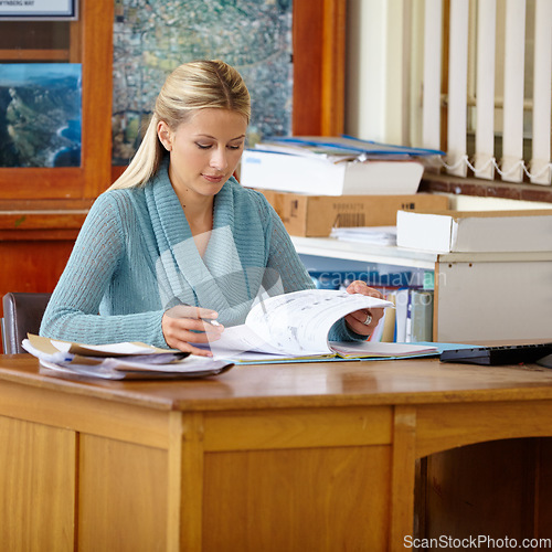
[[[252,98],[248,142],[291,131],[291,0],[116,0],[113,163],[135,153],[167,75],[222,60]]]

